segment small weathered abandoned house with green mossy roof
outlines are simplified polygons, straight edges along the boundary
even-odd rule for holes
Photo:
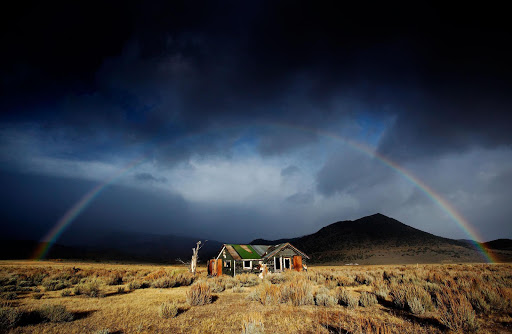
[[[218,255],[208,261],[208,274],[259,274],[264,267],[269,272],[302,271],[306,259],[309,256],[288,242],[278,245],[224,244]]]

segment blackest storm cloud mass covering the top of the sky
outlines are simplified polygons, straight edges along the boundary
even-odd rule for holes
[[[126,144],[219,125],[323,128],[364,110],[396,116],[380,150],[397,158],[510,145],[499,13],[373,9],[131,1],[6,11],[2,118]],[[316,140],[260,135],[264,154]]]

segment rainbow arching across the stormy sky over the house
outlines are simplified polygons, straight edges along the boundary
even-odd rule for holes
[[[263,126],[271,126],[271,127],[278,127],[278,128],[286,128],[286,129],[292,129],[295,131],[301,131],[306,133],[311,133],[315,135],[320,135],[326,138],[334,139],[336,141],[339,141],[348,147],[362,152],[365,155],[376,158],[378,161],[383,163],[384,165],[388,166],[392,170],[396,171],[399,175],[404,177],[408,182],[416,186],[418,189],[420,189],[427,197],[429,197],[434,203],[436,203],[445,213],[448,214],[448,216],[455,222],[457,225],[468,235],[468,237],[471,239],[475,247],[482,253],[482,255],[485,257],[487,262],[489,263],[495,263],[497,262],[497,259],[492,254],[490,250],[488,250],[482,243],[480,243],[478,240],[483,240],[477,231],[471,226],[469,221],[465,219],[457,210],[446,200],[444,200],[438,193],[436,193],[431,187],[429,187],[427,184],[425,184],[423,181],[421,181],[418,177],[414,176],[411,172],[407,171],[405,168],[398,165],[396,162],[392,161],[391,159],[385,157],[384,155],[380,154],[379,152],[375,151],[371,147],[351,140],[344,138],[338,134],[331,133],[328,131],[321,131],[318,129],[310,129],[305,127],[300,127],[297,125],[290,125],[290,124],[280,124],[280,123],[266,123],[263,124]],[[213,129],[211,132],[217,132],[220,130],[226,130],[224,129]],[[202,133],[204,134],[204,133]],[[191,137],[195,135],[189,135],[186,137]],[[50,250],[51,246],[57,241],[59,236],[64,232],[67,226],[69,226],[90,204],[91,202],[98,197],[98,195],[109,185],[114,183],[116,180],[118,180],[121,176],[125,175],[130,170],[136,168],[137,166],[141,165],[143,162],[147,160],[147,157],[143,156],[138,159],[135,159],[134,161],[130,162],[127,166],[121,168],[114,176],[108,178],[103,183],[98,184],[93,189],[91,189],[89,192],[87,192],[78,202],[76,202],[66,213],[60,218],[55,226],[45,235],[45,237],[41,240],[39,243],[36,251],[34,252],[34,255],[32,259],[35,260],[41,260],[44,259],[48,251]]]

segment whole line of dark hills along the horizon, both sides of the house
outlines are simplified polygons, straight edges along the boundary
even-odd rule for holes
[[[70,231],[71,232],[71,231]],[[77,232],[77,231],[75,231]],[[70,233],[75,234],[75,233]],[[93,237],[62,238],[47,258],[92,261],[176,263],[187,261],[199,239],[183,235],[158,235],[131,231],[97,231]],[[4,238],[5,239],[5,238]],[[77,243],[81,240],[82,243]],[[33,256],[38,246],[31,240],[0,240],[1,259]],[[453,240],[408,226],[377,213],[356,220],[338,221],[312,234],[277,240],[255,239],[251,244],[290,242],[312,257],[312,263],[403,264],[444,262],[486,262],[479,248],[469,240]],[[209,240],[200,262],[217,255],[224,242]],[[512,240],[482,243],[500,261],[512,260]]]

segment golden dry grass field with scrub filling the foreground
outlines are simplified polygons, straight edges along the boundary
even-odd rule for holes
[[[8,333],[509,333],[512,265],[185,267],[0,262]]]

